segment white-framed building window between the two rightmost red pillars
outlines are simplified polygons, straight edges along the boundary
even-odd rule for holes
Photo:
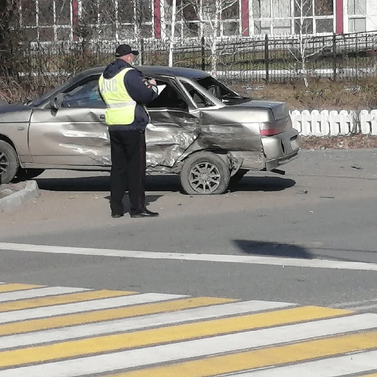
[[[329,34],[333,0],[253,0],[254,34]]]

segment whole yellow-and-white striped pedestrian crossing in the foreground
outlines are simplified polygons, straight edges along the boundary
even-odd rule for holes
[[[377,377],[376,371],[374,313],[0,284],[0,377]]]

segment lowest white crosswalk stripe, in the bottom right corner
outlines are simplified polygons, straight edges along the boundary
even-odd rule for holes
[[[377,351],[352,353],[296,365],[227,374],[233,377],[337,377],[377,369]]]

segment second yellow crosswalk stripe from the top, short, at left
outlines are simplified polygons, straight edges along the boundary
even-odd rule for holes
[[[42,297],[38,299],[26,299],[12,302],[0,303],[0,313],[12,310],[39,308],[50,305],[60,305],[72,302],[81,302],[87,300],[104,299],[109,297],[128,296],[135,294],[132,291],[86,291],[72,294],[63,294],[57,296]]]

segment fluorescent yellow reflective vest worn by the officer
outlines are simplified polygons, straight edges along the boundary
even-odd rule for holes
[[[133,68],[125,68],[114,77],[98,80],[101,95],[106,103],[105,121],[109,126],[131,124],[135,120],[136,102],[124,86],[124,76]]]

